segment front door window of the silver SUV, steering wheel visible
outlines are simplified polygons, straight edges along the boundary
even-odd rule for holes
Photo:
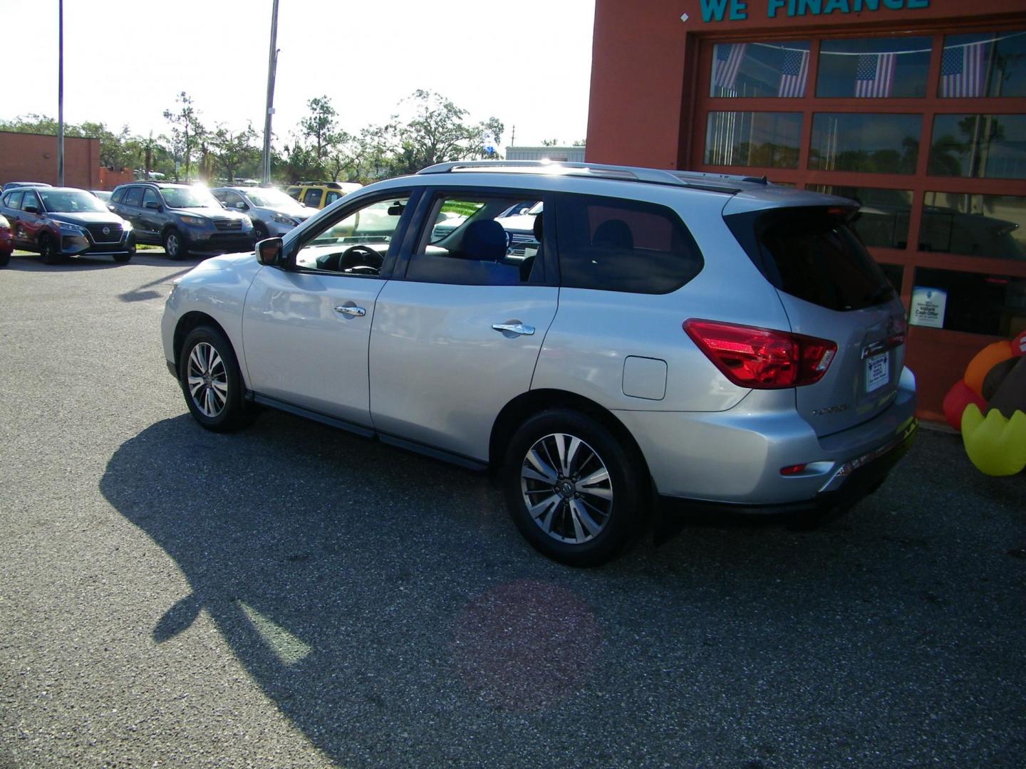
[[[313,233],[295,255],[302,270],[373,277],[381,274],[409,197],[368,203]]]

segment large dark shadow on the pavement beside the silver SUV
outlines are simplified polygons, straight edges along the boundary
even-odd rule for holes
[[[191,584],[153,639],[207,612],[342,765],[1000,759],[1024,479],[945,473],[948,438],[820,530],[692,523],[595,570],[530,551],[484,477],[277,412],[153,424],[101,489]]]

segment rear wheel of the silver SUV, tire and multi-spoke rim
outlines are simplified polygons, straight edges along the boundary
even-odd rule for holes
[[[569,409],[543,411],[520,427],[502,481],[524,538],[570,566],[604,563],[633,540],[644,482],[629,448],[603,424]]]

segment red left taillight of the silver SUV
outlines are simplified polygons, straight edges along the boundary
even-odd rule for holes
[[[743,388],[777,390],[813,385],[837,354],[828,339],[689,318],[684,331],[723,375]]]

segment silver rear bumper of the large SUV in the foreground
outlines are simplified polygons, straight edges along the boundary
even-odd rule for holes
[[[915,436],[907,369],[891,405],[869,421],[819,437],[783,391],[752,391],[721,412],[618,411],[661,496],[752,512],[830,507],[886,477]],[[795,475],[783,468],[804,464]]]

